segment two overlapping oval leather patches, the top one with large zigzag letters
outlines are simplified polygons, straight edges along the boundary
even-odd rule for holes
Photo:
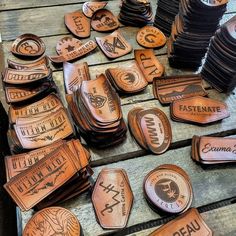
[[[128,123],[131,134],[142,148],[154,154],[161,154],[170,146],[170,122],[165,113],[158,108],[133,108],[129,111]]]

